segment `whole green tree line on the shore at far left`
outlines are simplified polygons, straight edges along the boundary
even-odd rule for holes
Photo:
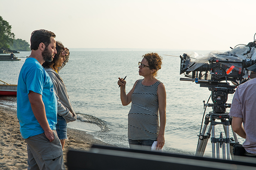
[[[0,50],[30,51],[28,42],[15,39],[12,26],[0,16]]]

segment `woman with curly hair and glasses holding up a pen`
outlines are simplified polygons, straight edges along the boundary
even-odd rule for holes
[[[130,148],[152,146],[154,141],[157,141],[156,149],[159,150],[164,145],[166,91],[163,83],[155,76],[161,69],[162,57],[156,53],[145,54],[142,57],[142,61],[139,62],[139,75],[144,79],[137,80],[127,95],[126,81],[119,78],[117,84],[120,85],[120,98],[123,106],[132,102],[128,114]]]

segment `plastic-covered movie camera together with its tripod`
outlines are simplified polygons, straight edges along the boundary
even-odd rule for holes
[[[180,80],[193,81],[196,84],[200,84],[201,87],[208,87],[211,91],[213,101],[213,104],[209,104],[209,100],[207,104],[204,101],[204,109],[206,110],[206,107],[212,107],[213,111],[205,116],[203,130],[202,121],[198,135],[196,156],[204,155],[210,135],[212,135],[213,158],[215,158],[215,154],[217,155],[216,158],[220,158],[219,148],[222,148],[223,159],[226,158],[226,153],[227,159],[230,159],[230,156],[232,156],[232,152],[230,151],[232,151],[234,143],[238,143],[238,140],[234,131],[234,139],[229,137],[229,125],[231,125],[232,117],[228,115],[226,108],[231,107],[231,104],[227,104],[226,102],[228,100],[228,94],[233,94],[237,86],[253,78],[253,74],[256,72],[255,35],[253,42],[247,45],[237,45],[235,48],[231,48],[231,51],[224,53],[212,51],[204,56],[200,56],[193,52],[180,56],[180,74],[184,73],[186,77],[180,78]],[[217,122],[217,119],[221,122]],[[206,131],[209,123],[209,129]],[[215,136],[215,125],[218,124],[223,125],[225,138],[222,136],[222,132],[219,138]]]

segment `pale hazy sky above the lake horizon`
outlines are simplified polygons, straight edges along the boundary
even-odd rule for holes
[[[15,39],[50,30],[68,48],[230,50],[256,33],[256,0],[0,0]]]

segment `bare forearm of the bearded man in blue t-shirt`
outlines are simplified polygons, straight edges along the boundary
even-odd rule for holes
[[[28,99],[31,104],[31,108],[34,113],[34,116],[36,117],[37,121],[43,128],[44,134],[50,140],[50,142],[52,142],[52,140],[54,140],[54,134],[46,118],[42,95],[40,95],[39,93],[30,91],[28,93]]]

